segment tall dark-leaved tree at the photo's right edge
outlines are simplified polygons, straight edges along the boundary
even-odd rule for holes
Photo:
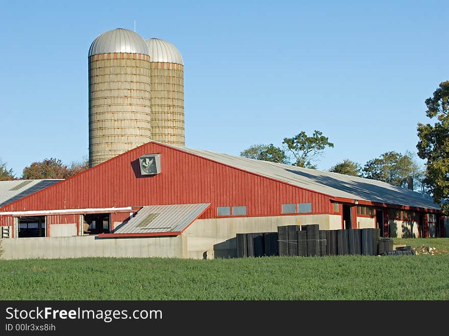
[[[426,99],[429,118],[434,125],[418,123],[418,156],[427,159],[425,182],[441,210],[449,213],[449,81],[440,83],[433,97]]]

